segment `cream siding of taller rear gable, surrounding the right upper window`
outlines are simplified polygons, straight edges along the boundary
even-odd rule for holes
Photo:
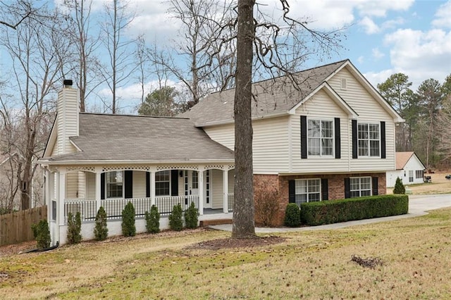
[[[340,88],[342,78],[346,78],[346,89]],[[371,94],[345,68],[330,78],[328,83],[357,112],[359,115],[358,122],[380,123],[385,121],[386,158],[351,158],[350,170],[353,172],[395,170],[395,123],[388,112],[376,99],[373,99]],[[349,124],[349,130],[351,132],[351,123]]]

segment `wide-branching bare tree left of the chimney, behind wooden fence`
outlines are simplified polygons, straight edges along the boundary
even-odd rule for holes
[[[32,6],[32,2],[29,2]],[[19,11],[17,13],[20,13]],[[8,153],[18,154],[18,188],[20,208],[30,207],[31,183],[39,157],[51,127],[51,101],[54,85],[61,82],[69,42],[61,39],[66,30],[61,15],[39,8],[39,18],[26,18],[14,31],[6,31],[0,47],[11,59],[11,77],[6,89],[18,91],[18,96],[1,95],[1,118]],[[19,15],[16,17],[19,18]],[[6,113],[8,111],[8,113]]]

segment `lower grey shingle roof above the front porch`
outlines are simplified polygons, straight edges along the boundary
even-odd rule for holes
[[[51,161],[233,161],[230,149],[214,142],[186,118],[80,113],[81,149]]]

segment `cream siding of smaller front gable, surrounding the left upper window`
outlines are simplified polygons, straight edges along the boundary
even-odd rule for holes
[[[301,115],[306,115],[307,120],[331,120],[340,118],[340,148],[341,158],[335,158],[335,139],[333,156],[318,157],[309,156],[301,158]],[[347,113],[338,106],[326,92],[319,91],[305,104],[297,108],[295,115],[291,115],[291,153],[292,173],[334,173],[347,172],[349,170],[350,157],[350,119]],[[335,130],[335,128],[334,128]]]

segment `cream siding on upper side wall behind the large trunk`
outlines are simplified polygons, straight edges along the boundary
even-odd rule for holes
[[[252,122],[254,173],[277,174],[288,172],[288,115]],[[235,148],[233,124],[204,128],[214,141],[229,149]]]

